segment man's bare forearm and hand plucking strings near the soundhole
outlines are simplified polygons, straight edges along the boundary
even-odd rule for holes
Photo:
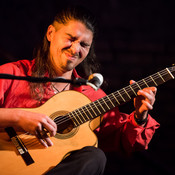
[[[0,108],[0,128],[10,126],[17,131],[35,135],[45,147],[53,145],[49,135],[55,136],[57,131],[56,123],[44,114],[21,109]]]

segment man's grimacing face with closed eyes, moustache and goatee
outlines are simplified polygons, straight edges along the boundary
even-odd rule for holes
[[[93,33],[80,21],[55,23],[47,30],[50,41],[50,59],[58,74],[72,71],[89,53]]]

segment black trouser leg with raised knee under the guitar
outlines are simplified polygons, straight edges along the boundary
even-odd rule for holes
[[[71,153],[46,175],[102,175],[105,164],[103,151],[87,146]]]

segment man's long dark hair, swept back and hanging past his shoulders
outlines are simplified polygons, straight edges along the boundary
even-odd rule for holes
[[[51,22],[57,22],[59,24],[67,24],[70,20],[77,20],[82,22],[89,30],[93,33],[93,42],[90,48],[90,51],[84,59],[84,61],[76,67],[78,74],[84,78],[87,78],[90,74],[94,72],[99,72],[99,63],[96,60],[96,55],[94,51],[94,38],[96,36],[96,21],[94,16],[84,7],[67,7],[63,10],[60,10],[54,20]],[[56,76],[56,73],[53,69],[52,63],[49,59],[49,47],[50,43],[47,40],[46,32],[40,46],[35,50],[35,65],[32,69],[32,76],[34,77],[43,77],[46,72],[49,77]],[[32,84],[31,88],[34,90],[36,87],[39,87],[40,92],[42,90],[43,84]]]

